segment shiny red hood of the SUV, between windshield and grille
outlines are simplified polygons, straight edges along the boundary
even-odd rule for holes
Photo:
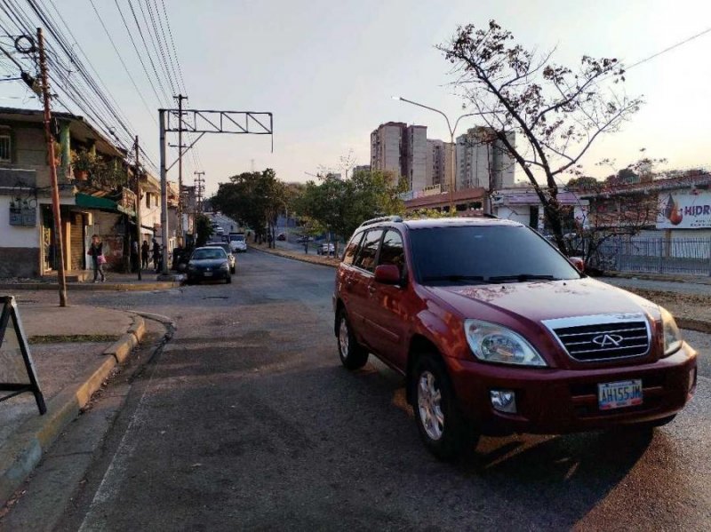
[[[467,318],[481,318],[488,306],[534,322],[591,314],[643,313],[659,318],[659,306],[590,278],[509,282],[474,286],[428,286],[432,294]]]

